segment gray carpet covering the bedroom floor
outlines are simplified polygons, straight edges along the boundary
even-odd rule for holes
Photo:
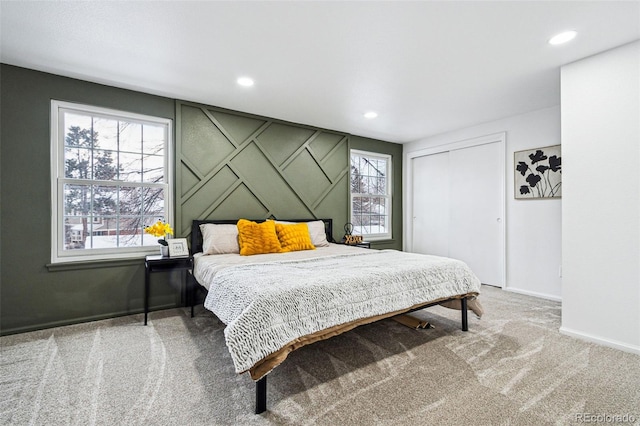
[[[482,291],[467,333],[434,307],[416,316],[435,329],[384,320],[294,352],[261,415],[202,307],[5,336],[0,424],[640,424],[640,356],[560,335],[559,303]]]

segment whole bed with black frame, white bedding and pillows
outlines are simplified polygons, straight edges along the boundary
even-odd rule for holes
[[[245,225],[269,228],[260,237],[265,240],[277,226],[282,246],[278,239],[273,244],[283,250],[294,240],[282,237],[281,230],[308,229],[308,238],[295,240],[286,253],[262,247],[266,252],[252,254],[246,251],[251,241]],[[464,331],[468,309],[482,314],[480,281],[463,262],[335,244],[332,228],[331,219],[192,223],[191,315],[194,294],[205,290],[205,308],[226,325],[236,372],[249,372],[256,382],[256,413],[266,410],[267,374],[305,345],[436,304],[460,309]]]

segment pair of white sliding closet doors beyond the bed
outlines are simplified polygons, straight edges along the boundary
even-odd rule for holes
[[[412,251],[466,262],[504,285],[504,163],[498,142],[412,159]]]

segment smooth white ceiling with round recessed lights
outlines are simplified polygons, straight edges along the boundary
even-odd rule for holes
[[[640,39],[638,1],[0,7],[3,63],[393,142],[558,105],[561,65]]]

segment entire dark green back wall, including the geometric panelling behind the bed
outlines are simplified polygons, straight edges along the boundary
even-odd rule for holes
[[[142,259],[48,266],[50,102],[174,120],[176,233],[194,218],[348,218],[348,149],[391,154],[402,248],[402,146],[0,64],[0,334],[142,312]],[[153,309],[179,306],[180,274],[154,274]],[[142,316],[140,317],[142,321]],[[141,322],[142,324],[142,322]]]

